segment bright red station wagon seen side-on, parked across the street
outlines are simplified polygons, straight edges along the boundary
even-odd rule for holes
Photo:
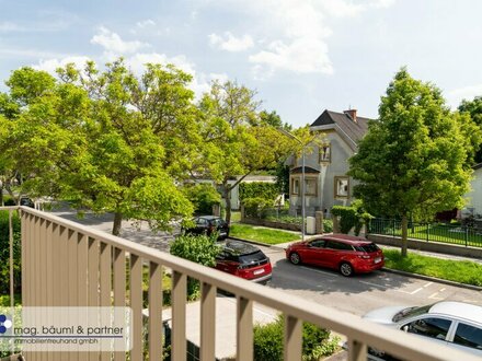
[[[291,264],[338,269],[343,276],[370,272],[385,265],[381,249],[372,242],[347,234],[332,234],[294,243],[286,251]]]

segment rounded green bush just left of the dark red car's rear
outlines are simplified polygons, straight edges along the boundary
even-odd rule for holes
[[[195,261],[199,265],[216,266],[216,256],[221,251],[221,246],[216,243],[218,234],[214,232],[210,236],[206,235],[180,235],[171,244],[171,255]],[[187,298],[197,300],[199,298],[199,281],[187,279]]]

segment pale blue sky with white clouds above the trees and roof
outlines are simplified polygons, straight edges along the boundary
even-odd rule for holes
[[[22,66],[123,56],[172,62],[200,95],[213,79],[257,91],[295,127],[325,108],[377,117],[402,66],[448,104],[482,95],[480,0],[0,0],[0,91]]]

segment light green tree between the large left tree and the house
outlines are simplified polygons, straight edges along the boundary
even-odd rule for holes
[[[236,82],[214,82],[199,103],[204,174],[218,183],[228,222],[231,190],[252,172],[274,167],[292,151],[291,140],[260,120],[254,97],[254,91]]]

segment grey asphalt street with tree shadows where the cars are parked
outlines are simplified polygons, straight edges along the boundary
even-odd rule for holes
[[[108,214],[104,217],[85,214],[83,219],[77,219],[70,210],[57,210],[54,213],[104,232],[110,233],[112,229],[112,217]],[[130,222],[124,221],[120,235],[163,252],[169,252],[169,243],[172,240],[167,233],[153,234],[145,222],[136,228]],[[388,305],[424,305],[441,300],[482,305],[481,291],[385,271],[346,278],[335,270],[291,265],[280,247],[260,246],[260,248],[271,258],[273,265],[273,279],[266,287],[355,315],[362,316],[370,310]]]

